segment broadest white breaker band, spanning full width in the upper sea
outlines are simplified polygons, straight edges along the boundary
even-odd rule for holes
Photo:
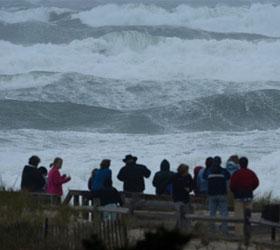
[[[53,71],[124,80],[280,80],[279,41],[182,40],[124,32],[67,45],[24,47],[0,41],[0,46],[0,74]]]

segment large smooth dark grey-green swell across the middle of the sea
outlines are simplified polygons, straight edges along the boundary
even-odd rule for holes
[[[73,103],[0,100],[0,105],[1,129],[152,134],[280,127],[280,90],[275,89],[213,95],[126,112]]]

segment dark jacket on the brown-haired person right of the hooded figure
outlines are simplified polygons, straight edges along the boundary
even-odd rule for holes
[[[190,174],[181,176],[175,174],[172,177],[172,198],[174,202],[188,203],[190,201],[190,192],[193,190],[193,179]]]

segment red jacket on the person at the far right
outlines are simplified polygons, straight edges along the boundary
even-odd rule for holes
[[[236,199],[253,198],[253,191],[258,186],[258,177],[248,168],[237,170],[230,179],[230,189]]]

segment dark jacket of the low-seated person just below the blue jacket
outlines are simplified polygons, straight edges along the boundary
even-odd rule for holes
[[[100,205],[106,206],[108,204],[119,204],[120,206],[123,205],[121,196],[117,189],[114,187],[107,187],[101,189],[97,192],[97,195],[100,199]]]

